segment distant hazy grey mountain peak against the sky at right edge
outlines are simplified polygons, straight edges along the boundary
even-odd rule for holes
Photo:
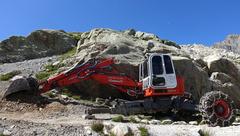
[[[214,47],[240,53],[240,35],[228,35],[224,41],[214,44]]]

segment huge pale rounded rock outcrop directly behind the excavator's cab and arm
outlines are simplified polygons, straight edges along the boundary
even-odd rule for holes
[[[119,32],[111,29],[94,29],[81,35],[77,50],[75,61],[86,61],[94,57],[118,59],[119,64],[115,67],[135,80],[138,80],[138,65],[144,61],[147,53],[169,53],[175,56],[173,57],[175,68],[177,74],[185,79],[186,91],[192,93],[196,101],[205,92],[210,91],[208,73],[194,60],[189,59],[179,46],[164,44],[163,40],[153,34],[133,30]],[[88,96],[120,96],[116,89],[103,87],[94,81],[84,81],[75,86]]]

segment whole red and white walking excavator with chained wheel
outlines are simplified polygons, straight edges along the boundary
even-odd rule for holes
[[[114,58],[96,58],[76,64],[46,81],[38,82],[32,77],[16,79],[4,96],[22,90],[45,93],[54,88],[91,79],[115,87],[137,99],[133,101],[118,99],[112,107],[93,108],[87,111],[88,114],[201,112],[203,119],[211,126],[228,126],[235,120],[232,100],[220,91],[206,93],[199,104],[195,104],[191,95],[185,92],[184,79],[176,75],[171,56],[168,54],[148,54],[146,60],[139,65],[139,81],[119,72],[114,67],[116,63],[118,61]]]

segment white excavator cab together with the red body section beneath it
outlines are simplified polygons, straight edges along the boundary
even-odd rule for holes
[[[145,96],[176,95],[183,92],[178,89],[178,79],[168,54],[150,54],[139,66],[139,81],[147,92]]]

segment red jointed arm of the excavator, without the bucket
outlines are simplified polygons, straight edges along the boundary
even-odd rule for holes
[[[116,60],[90,59],[82,64],[76,64],[71,69],[62,72],[39,83],[41,93],[54,88],[61,88],[84,80],[95,80],[101,84],[106,84],[117,88],[131,96],[142,93],[141,83],[135,81],[124,73],[120,73],[114,66]]]

